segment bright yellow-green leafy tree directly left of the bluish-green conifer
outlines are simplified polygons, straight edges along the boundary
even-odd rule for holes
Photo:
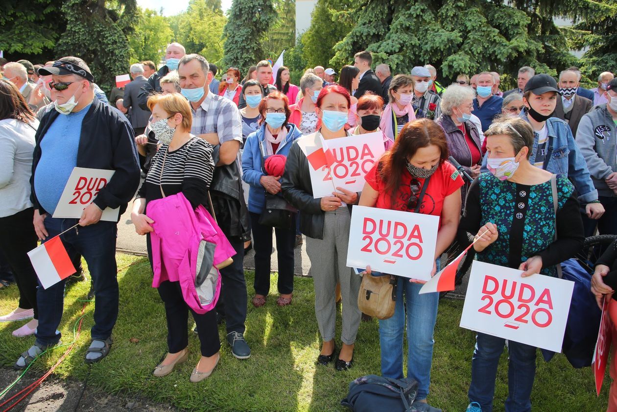
[[[220,0],[191,0],[186,12],[172,23],[175,39],[187,53],[198,53],[209,62],[223,57],[223,27],[226,17]]]

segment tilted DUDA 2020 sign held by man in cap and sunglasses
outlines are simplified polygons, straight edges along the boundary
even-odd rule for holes
[[[92,203],[99,190],[107,186],[114,175],[114,170],[88,169],[75,167],[68,177],[67,185],[62,191],[58,206],[53,217],[73,217],[79,219],[83,209]],[[102,221],[117,222],[120,208],[106,208],[101,216]]]

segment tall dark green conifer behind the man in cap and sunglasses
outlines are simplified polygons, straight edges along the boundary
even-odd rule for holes
[[[127,36],[135,28],[136,0],[66,0],[62,12],[67,16],[67,30],[56,44],[56,56],[81,57],[97,85],[111,90],[115,76],[128,72]]]

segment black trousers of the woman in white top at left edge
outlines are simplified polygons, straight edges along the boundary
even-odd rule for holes
[[[32,224],[34,210],[28,208],[11,216],[0,217],[0,249],[15,274],[15,283],[19,288],[19,307],[34,309],[35,319],[38,319],[37,277],[27,254],[36,248],[38,240]]]

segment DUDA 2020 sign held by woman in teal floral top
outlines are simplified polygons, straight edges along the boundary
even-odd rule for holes
[[[561,352],[574,282],[474,261],[460,326]]]

